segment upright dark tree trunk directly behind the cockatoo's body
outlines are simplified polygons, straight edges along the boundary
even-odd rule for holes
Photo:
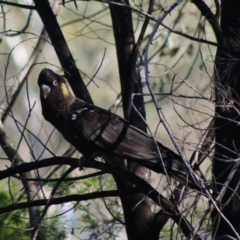
[[[121,3],[121,1],[116,2]],[[128,1],[125,1],[125,3],[129,4]],[[124,117],[129,120],[131,124],[146,131],[145,123],[136,111],[133,110],[131,102],[133,93],[142,93],[141,79],[136,66],[136,54],[134,54],[135,38],[132,25],[132,12],[131,9],[119,7],[114,4],[110,4],[110,12],[116,42]],[[133,103],[145,118],[143,97],[135,97]],[[127,167],[130,171],[148,181],[150,173],[147,168],[139,166],[136,163],[128,163]],[[133,184],[124,178],[116,176],[114,176],[114,178],[120,191],[126,191],[134,187]],[[146,239],[154,219],[149,198],[142,193],[131,194],[121,196],[121,202],[128,239]],[[158,239],[158,234],[159,233],[156,233],[152,239]]]

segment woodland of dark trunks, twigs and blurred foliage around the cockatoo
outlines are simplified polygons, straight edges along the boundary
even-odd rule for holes
[[[63,3],[0,1],[0,239],[240,239],[240,2]],[[45,67],[187,159],[206,188],[135,163],[79,171],[41,114]]]

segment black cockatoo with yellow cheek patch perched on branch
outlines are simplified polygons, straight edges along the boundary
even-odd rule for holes
[[[199,189],[176,153],[120,116],[75,98],[60,75],[43,69],[38,85],[43,116],[83,155],[110,154],[163,174],[165,168],[177,181]],[[46,86],[50,91],[44,95]]]

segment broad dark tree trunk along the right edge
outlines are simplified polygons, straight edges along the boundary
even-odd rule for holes
[[[212,213],[213,239],[222,235],[240,234],[240,168],[234,160],[240,153],[240,1],[222,0],[221,29],[225,38],[219,45],[215,59],[215,136],[213,176],[218,193],[226,186],[229,174],[236,170],[219,208],[231,223],[217,211]],[[236,192],[234,193],[234,191]],[[217,196],[216,192],[215,195]],[[232,225],[232,226],[231,226]]]

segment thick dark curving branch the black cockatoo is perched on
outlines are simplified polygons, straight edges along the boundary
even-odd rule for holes
[[[14,168],[9,168],[7,170],[1,171],[0,180],[18,173],[27,172],[58,164],[65,164],[73,168],[78,168],[79,167],[78,160],[79,159],[74,158],[55,157],[43,159],[38,162],[25,163],[19,166],[15,166]],[[136,175],[129,171],[114,166],[110,166],[101,162],[93,161],[91,159],[86,159],[86,161],[84,161],[83,163],[83,167],[101,169],[104,172],[111,173],[115,176],[125,178],[127,181],[132,182],[139,191],[141,191],[146,196],[151,198],[156,204],[158,204],[165,210],[165,214],[168,214],[176,222],[176,224],[178,224],[179,228],[183,231],[185,236],[191,235],[193,228],[191,224],[179,212],[177,206],[171,204],[168,199],[159,194],[154,188],[151,187],[151,185],[146,183],[143,179],[137,177]]]

